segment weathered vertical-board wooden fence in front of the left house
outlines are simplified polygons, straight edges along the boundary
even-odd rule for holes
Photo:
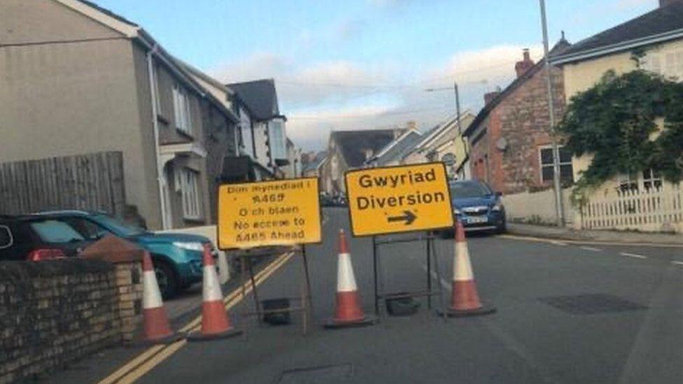
[[[122,215],[121,152],[0,163],[0,214],[82,209]]]

